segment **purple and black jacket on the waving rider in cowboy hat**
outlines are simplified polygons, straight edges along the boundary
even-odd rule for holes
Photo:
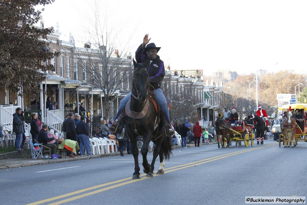
[[[141,45],[135,52],[135,60],[137,63],[145,63],[145,61],[148,60],[147,56],[143,54],[144,49],[141,48]],[[156,60],[152,61],[146,69],[149,75],[150,85],[152,85],[154,89],[160,88],[161,81],[165,76],[164,63],[160,60],[160,57],[157,56]]]

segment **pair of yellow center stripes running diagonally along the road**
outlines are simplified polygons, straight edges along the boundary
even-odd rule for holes
[[[188,167],[191,167],[189,165],[192,165],[192,164],[199,164],[201,162],[204,162],[204,161],[211,161],[212,159],[216,159],[216,158],[220,158],[220,157],[223,157],[223,156],[227,156],[227,155],[235,155],[236,153],[237,154],[240,154],[241,152],[247,152],[247,151],[252,151],[252,150],[255,150],[255,149],[261,149],[261,148],[266,148],[266,147],[269,147],[269,146],[273,146],[273,145],[276,145],[277,143],[273,143],[273,144],[269,144],[269,145],[265,145],[265,146],[261,146],[261,147],[258,147],[258,148],[250,148],[250,149],[247,149],[247,150],[241,150],[241,151],[237,151],[237,152],[230,152],[230,153],[227,153],[227,154],[223,154],[223,155],[220,155],[220,156],[215,156],[215,157],[211,157],[211,158],[207,158],[207,159],[204,159],[204,160],[199,160],[199,161],[195,161],[195,162],[191,162],[191,163],[187,163],[187,164],[182,164],[182,165],[177,165],[177,166],[174,166],[174,167],[170,167],[170,168],[165,168],[164,170],[170,170],[171,169],[176,169],[176,168],[180,168],[180,167],[184,167],[184,166],[188,166]],[[222,159],[222,158],[221,158]],[[213,160],[212,160],[213,161]],[[204,163],[201,163],[201,164],[204,164]],[[194,165],[193,165],[194,166]],[[179,170],[179,169],[176,169],[176,170]],[[174,170],[175,171],[175,170]],[[168,171],[169,172],[169,171]],[[140,175],[141,177],[142,176],[146,176],[146,174],[141,174]],[[156,175],[155,175],[156,176]],[[49,199],[43,199],[43,200],[40,200],[40,201],[37,201],[37,202],[33,202],[33,203],[29,203],[28,205],[34,205],[34,204],[41,204],[41,203],[46,203],[46,202],[49,202],[49,201],[53,201],[53,200],[57,200],[57,199],[61,199],[61,198],[64,198],[64,197],[68,197],[68,196],[71,196],[71,195],[75,195],[75,194],[80,194],[82,192],[85,192],[85,191],[90,191],[90,190],[93,190],[93,189],[96,189],[96,188],[100,188],[100,187],[104,187],[104,186],[108,186],[108,185],[111,185],[111,184],[115,184],[115,183],[119,183],[119,182],[123,182],[123,181],[126,181],[126,180],[131,180],[132,177],[128,177],[128,178],[125,178],[125,179],[119,179],[119,180],[116,180],[116,181],[113,181],[113,182],[108,182],[108,183],[103,183],[103,184],[100,184],[100,185],[97,185],[97,186],[93,186],[93,187],[88,187],[88,188],[85,188],[85,189],[81,189],[81,190],[78,190],[78,191],[74,191],[74,192],[71,192],[71,193],[67,193],[67,194],[63,194],[63,195],[59,195],[59,196],[55,196],[55,197],[52,197],[52,198],[49,198]],[[123,183],[120,183],[120,184],[116,184],[116,185],[113,185],[111,187],[105,187],[103,189],[99,189],[99,190],[96,190],[96,191],[92,191],[90,193],[87,193],[87,194],[83,194],[83,195],[79,195],[79,196],[75,196],[75,197],[72,197],[72,198],[69,198],[71,200],[68,200],[68,201],[72,201],[72,200],[75,200],[75,199],[79,199],[79,198],[82,198],[84,196],[87,196],[87,195],[91,195],[91,193],[95,194],[95,193],[99,193],[101,191],[105,191],[105,190],[109,190],[109,189],[112,189],[112,188],[115,188],[115,187],[119,187],[119,186],[122,186],[122,185],[125,185],[125,184],[129,184],[129,183],[133,183],[133,182],[137,182],[137,181],[140,181],[140,180],[144,180],[144,179],[147,179],[148,177],[143,177],[141,179],[136,179],[136,180],[131,180],[131,181],[128,181],[128,182],[123,182]],[[98,192],[97,192],[98,191]],[[76,198],[78,197],[78,198]],[[64,203],[64,200],[62,201],[59,201],[61,203]],[[57,202],[57,204],[59,203]],[[56,203],[54,203],[56,204]]]

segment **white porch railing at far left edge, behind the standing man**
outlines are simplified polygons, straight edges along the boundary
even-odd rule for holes
[[[3,126],[3,130],[12,132],[13,114],[16,112],[16,108],[19,108],[19,106],[0,105],[0,126]]]

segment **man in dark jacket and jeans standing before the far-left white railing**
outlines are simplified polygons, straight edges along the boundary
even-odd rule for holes
[[[21,117],[21,108],[16,108],[16,113],[13,114],[13,132],[15,132],[16,140],[15,140],[15,149],[17,151],[22,151],[20,148],[22,133],[25,133],[24,127],[25,121],[22,120]]]

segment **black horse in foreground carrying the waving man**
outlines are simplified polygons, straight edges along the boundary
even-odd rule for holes
[[[145,64],[138,64],[133,59],[134,72],[129,105],[130,110],[135,115],[142,112],[143,109],[146,108],[145,106],[148,106],[148,111],[146,115],[140,119],[129,117],[128,115],[126,115],[124,118],[126,125],[125,134],[131,140],[132,154],[134,157],[134,173],[132,179],[140,179],[137,146],[138,136],[143,136],[143,146],[141,148],[141,153],[143,156],[142,165],[147,177],[153,177],[154,163],[158,155],[160,156],[160,168],[157,171],[157,174],[164,173],[163,156],[165,159],[169,159],[169,157],[172,155],[172,139],[171,137],[167,137],[165,135],[164,126],[162,121],[159,120],[159,113],[156,112],[156,109],[150,99],[153,96],[149,92],[149,75],[146,70],[148,63],[149,62],[147,61]],[[151,165],[149,165],[147,161],[148,146],[150,141],[153,141],[155,144]]]

